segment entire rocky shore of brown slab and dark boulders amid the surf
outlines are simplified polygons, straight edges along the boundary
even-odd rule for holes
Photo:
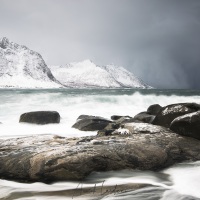
[[[161,170],[200,160],[200,105],[150,106],[134,117],[82,115],[74,128],[96,136],[65,138],[34,135],[0,140],[0,178],[22,182],[84,180],[94,171]],[[58,113],[41,112],[45,123],[59,123]],[[55,112],[54,112],[55,113]],[[34,117],[33,117],[34,115]],[[38,123],[38,113],[23,120]],[[34,121],[35,120],[35,121]],[[45,124],[40,122],[39,124]],[[194,127],[194,128],[193,128]]]

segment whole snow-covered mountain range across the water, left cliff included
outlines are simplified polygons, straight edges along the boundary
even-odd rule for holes
[[[151,88],[123,67],[90,60],[47,67],[29,48],[0,39],[0,88]]]

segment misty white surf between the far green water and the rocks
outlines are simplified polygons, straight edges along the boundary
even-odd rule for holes
[[[0,133],[1,137],[13,137],[27,134],[58,134],[66,137],[94,135],[96,132],[81,132],[71,126],[81,114],[110,118],[111,115],[134,116],[145,111],[151,104],[165,106],[178,102],[200,103],[200,96],[166,96],[139,92],[134,94],[111,95],[93,93],[74,94],[73,90],[37,93],[16,91],[0,91]],[[61,115],[60,124],[31,125],[19,123],[24,112],[37,110],[55,110]]]

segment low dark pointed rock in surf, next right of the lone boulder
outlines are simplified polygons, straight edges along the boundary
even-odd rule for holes
[[[103,117],[81,115],[72,127],[81,131],[98,131],[104,129],[111,122]]]

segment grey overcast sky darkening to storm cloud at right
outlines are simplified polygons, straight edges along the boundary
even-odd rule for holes
[[[48,65],[124,66],[157,88],[200,89],[200,0],[0,0],[0,37]]]

